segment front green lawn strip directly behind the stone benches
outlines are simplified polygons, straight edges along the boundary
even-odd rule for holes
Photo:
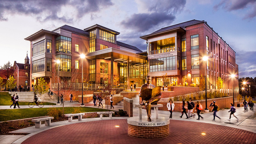
[[[64,114],[70,114],[76,107],[64,107]],[[47,116],[48,108],[0,109],[0,121],[10,121],[37,116]],[[62,108],[58,108],[61,109]],[[81,107],[81,112],[108,111],[107,109]]]

